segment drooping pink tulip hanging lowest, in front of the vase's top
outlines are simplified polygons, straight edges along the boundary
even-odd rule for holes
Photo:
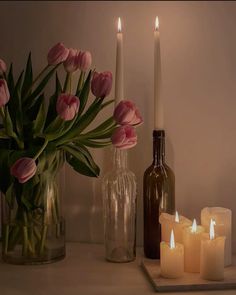
[[[32,178],[37,171],[37,166],[32,158],[18,159],[10,169],[11,175],[15,176],[19,183],[25,183]]]

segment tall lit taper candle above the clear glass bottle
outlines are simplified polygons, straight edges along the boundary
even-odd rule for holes
[[[116,43],[116,81],[115,81],[115,104],[124,99],[124,53],[123,53],[123,33],[121,19],[118,18],[118,32]]]

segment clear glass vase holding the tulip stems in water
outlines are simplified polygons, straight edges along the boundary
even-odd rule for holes
[[[7,263],[44,264],[65,257],[58,155],[50,163],[31,193],[24,193],[26,184],[16,180],[2,195],[2,257]]]

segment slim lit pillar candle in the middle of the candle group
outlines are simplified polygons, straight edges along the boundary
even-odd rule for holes
[[[183,233],[184,271],[200,272],[201,238],[205,228],[197,225],[196,219],[192,226],[186,227]]]

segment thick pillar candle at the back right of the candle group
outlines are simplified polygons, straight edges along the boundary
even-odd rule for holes
[[[210,220],[216,222],[215,233],[217,236],[225,236],[225,266],[232,263],[232,211],[221,207],[206,207],[201,211],[201,223],[209,232]]]

